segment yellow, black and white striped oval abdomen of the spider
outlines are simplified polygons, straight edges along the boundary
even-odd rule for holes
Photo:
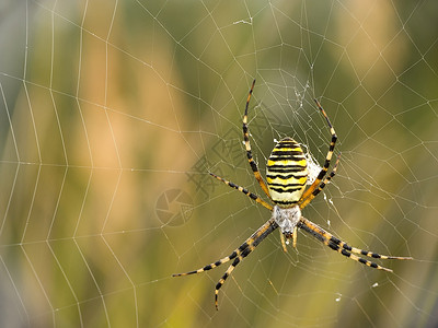
[[[281,139],[267,161],[266,180],[270,198],[279,207],[292,207],[306,188],[308,165],[292,138]]]

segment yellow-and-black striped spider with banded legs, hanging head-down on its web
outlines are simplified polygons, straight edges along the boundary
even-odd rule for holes
[[[334,153],[335,144],[336,144],[336,132],[330,122],[327,115],[324,109],[321,107],[320,103],[314,99],[316,103],[316,107],[324,116],[330,132],[332,134],[332,140],[330,142],[328,152],[325,157],[324,166],[322,167],[320,174],[316,179],[310,185],[310,187],[304,191],[306,184],[308,179],[308,165],[306,161],[306,156],[300,148],[299,143],[295,141],[292,138],[286,137],[277,142],[270,156],[267,161],[266,167],[266,180],[267,184],[263,180],[257,164],[255,163],[250,144],[250,133],[247,128],[247,108],[250,105],[251,95],[253,93],[255,80],[252,83],[250,93],[247,95],[246,105],[245,105],[245,114],[243,115],[243,140],[246,149],[247,161],[251,165],[255,179],[258,181],[262,190],[266,194],[266,196],[274,202],[274,206],[267,203],[263,199],[261,199],[257,195],[249,191],[246,188],[238,186],[224,178],[217,176],[214,173],[209,173],[212,177],[224,183],[226,185],[234,188],[244,195],[246,195],[252,200],[258,202],[264,206],[266,209],[272,211],[270,219],[263,224],[251,237],[249,237],[239,248],[234,249],[229,256],[217,260],[204,268],[198,270],[185,272],[185,273],[174,273],[173,277],[188,276],[194,273],[200,273],[220,265],[223,265],[230,260],[233,260],[231,266],[227,269],[226,273],[220,278],[219,282],[215,289],[215,305],[216,309],[218,309],[218,294],[220,288],[226,282],[227,278],[230,277],[231,272],[234,268],[247,256],[251,251],[254,250],[255,247],[264,239],[267,235],[269,235],[277,227],[280,230],[281,236],[281,245],[286,250],[285,238],[292,239],[292,246],[297,245],[297,230],[301,229],[304,232],[309,233],[320,242],[324,243],[324,245],[328,246],[333,250],[341,253],[342,255],[358,261],[365,266],[370,268],[380,269],[384,271],[392,272],[391,269],[384,268],[374,263],[368,259],[361,258],[358,255],[371,257],[371,258],[380,258],[380,259],[412,259],[412,257],[399,257],[399,256],[388,256],[380,255],[377,253],[372,253],[369,250],[364,250],[360,248],[351,247],[347,243],[336,238],[319,225],[309,221],[304,216],[301,215],[301,210],[306,208],[312,200],[315,198],[322,189],[331,181],[331,179],[335,176],[337,165],[339,163],[339,156],[336,160],[336,163],[328,174],[325,177],[330,163]],[[325,179],[323,180],[323,178]]]

